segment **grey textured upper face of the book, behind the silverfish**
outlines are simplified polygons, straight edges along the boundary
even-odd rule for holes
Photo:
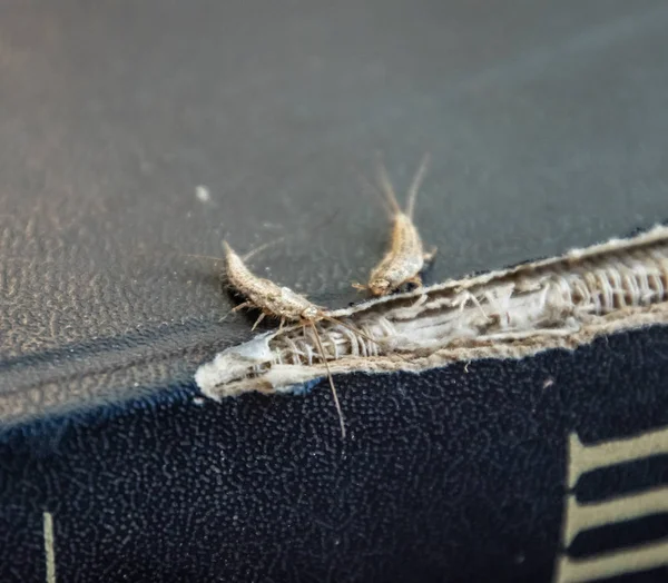
[[[175,250],[287,234],[256,269],[356,299],[387,236],[358,180],[376,150],[399,191],[433,156],[416,211],[433,281],[668,215],[660,0],[0,10],[2,385],[36,389],[4,418],[185,381],[248,338],[218,323],[219,267]],[[183,356],[158,365],[166,346]]]

